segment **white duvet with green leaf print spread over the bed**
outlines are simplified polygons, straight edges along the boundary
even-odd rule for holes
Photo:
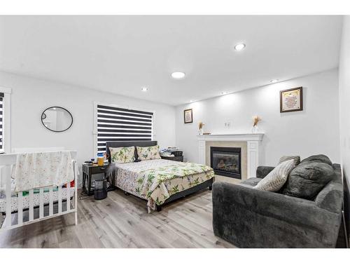
[[[116,186],[148,201],[148,211],[173,194],[214,177],[214,170],[197,163],[165,159],[116,164]]]

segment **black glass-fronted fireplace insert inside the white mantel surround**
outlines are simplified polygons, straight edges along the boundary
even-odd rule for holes
[[[210,166],[216,175],[241,179],[241,148],[210,147]]]

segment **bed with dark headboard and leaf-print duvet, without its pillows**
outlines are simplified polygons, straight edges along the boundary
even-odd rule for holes
[[[106,142],[106,153],[111,156],[109,147],[149,147],[157,144],[157,141]],[[208,166],[166,159],[116,163],[110,169],[116,175],[116,187],[146,200],[148,212],[159,212],[163,205],[207,187],[211,190],[214,182],[214,170]]]

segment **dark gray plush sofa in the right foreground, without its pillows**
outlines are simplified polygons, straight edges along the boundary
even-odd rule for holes
[[[339,164],[331,167],[332,180],[311,200],[253,189],[273,167],[240,184],[215,182],[214,234],[239,248],[335,248],[343,188]]]

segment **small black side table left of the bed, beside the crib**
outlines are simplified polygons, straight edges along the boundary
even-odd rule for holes
[[[104,177],[106,178],[106,172],[108,168],[109,168],[109,163],[104,163],[103,166],[83,163],[83,190],[87,191],[87,196],[92,196],[92,194],[94,194],[94,191],[91,189],[92,175],[104,173]],[[112,185],[107,189],[107,191],[113,191],[114,189],[116,189],[116,187],[114,187],[115,178],[116,178],[116,175],[114,172],[112,173],[111,177],[112,177]],[[86,180],[87,180],[87,186],[85,187]]]

